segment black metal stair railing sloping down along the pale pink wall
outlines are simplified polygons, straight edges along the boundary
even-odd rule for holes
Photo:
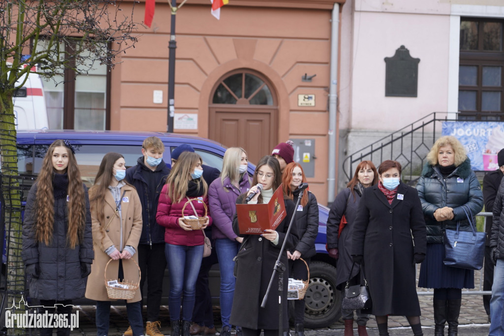
[[[413,185],[420,177],[425,157],[441,135],[442,123],[455,121],[457,112],[433,112],[402,129],[347,156],[343,161],[343,172],[347,181],[362,160],[372,161],[376,167],[387,159],[402,165],[402,181]],[[455,118],[454,118],[455,117]]]

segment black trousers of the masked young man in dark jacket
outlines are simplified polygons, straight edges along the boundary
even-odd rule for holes
[[[159,307],[163,294],[163,278],[166,269],[164,243],[138,245],[138,265],[140,266],[140,289],[144,297],[144,284],[147,281],[147,321],[159,320]],[[143,305],[143,304],[142,304]]]

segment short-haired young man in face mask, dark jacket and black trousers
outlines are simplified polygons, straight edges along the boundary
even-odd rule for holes
[[[131,183],[142,201],[143,229],[138,244],[138,262],[142,275],[140,288],[147,281],[147,325],[145,334],[162,336],[159,331],[159,307],[163,293],[166,268],[164,228],[156,222],[159,193],[166,183],[170,169],[163,161],[164,144],[158,137],[148,137],[142,144],[142,156],[137,165],[126,170],[125,180]],[[143,297],[143,293],[142,293]],[[124,332],[133,335],[131,327]]]

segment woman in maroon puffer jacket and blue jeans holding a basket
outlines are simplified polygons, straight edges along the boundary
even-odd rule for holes
[[[191,318],[196,294],[196,279],[203,259],[203,230],[211,225],[208,215],[203,228],[193,230],[182,219],[184,216],[205,215],[208,209],[208,186],[202,178],[203,160],[194,152],[183,152],[173,165],[168,180],[161,190],[156,219],[165,227],[165,256],[170,271],[170,296],[168,307],[171,318],[171,335],[180,331],[180,305],[182,305],[182,335],[190,335]],[[184,204],[189,199],[195,199]]]

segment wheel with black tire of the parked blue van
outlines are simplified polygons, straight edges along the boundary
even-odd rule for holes
[[[310,282],[304,296],[304,326],[326,328],[341,316],[341,292],[336,289],[336,267],[322,261],[310,263]]]

